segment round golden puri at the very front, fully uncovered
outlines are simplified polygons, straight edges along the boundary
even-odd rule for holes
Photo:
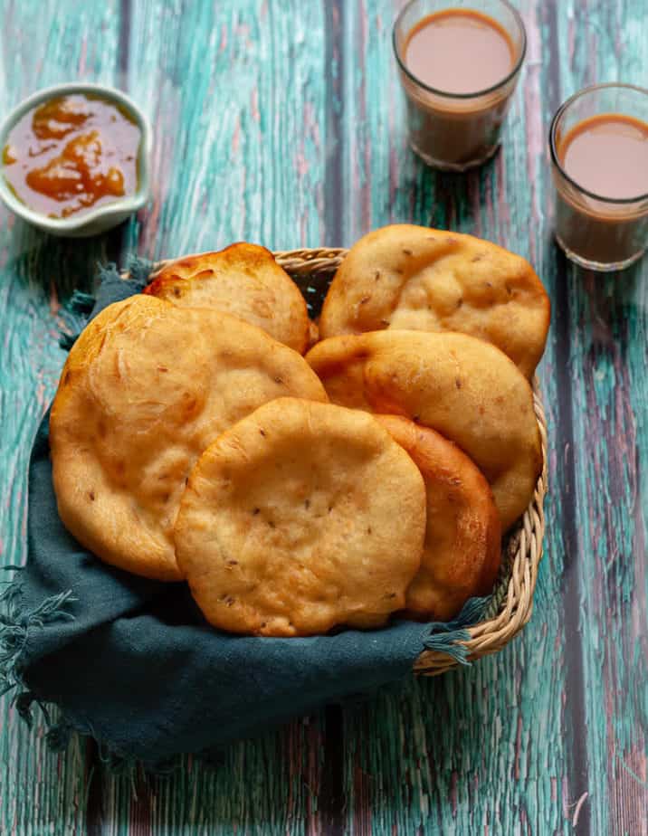
[[[375,418],[282,398],[197,461],[176,551],[214,626],[311,635],[403,607],[424,528],[421,474]]]

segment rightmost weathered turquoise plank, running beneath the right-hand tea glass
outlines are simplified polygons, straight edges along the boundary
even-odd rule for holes
[[[645,9],[566,4],[557,17],[563,95],[616,79],[644,84]],[[578,33],[586,32],[586,37]],[[592,832],[648,831],[646,381],[648,263],[604,278],[563,269],[570,328],[578,578]],[[576,614],[576,613],[575,613]]]

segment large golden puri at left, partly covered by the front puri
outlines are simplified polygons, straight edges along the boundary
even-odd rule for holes
[[[179,579],[173,526],[196,459],[287,394],[327,400],[303,357],[260,328],[149,296],[110,305],[72,347],[52,405],[63,523],[112,565]]]

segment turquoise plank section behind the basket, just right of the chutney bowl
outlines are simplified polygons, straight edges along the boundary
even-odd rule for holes
[[[319,4],[134,5],[129,90],[156,126],[142,252],[322,242],[323,47]]]

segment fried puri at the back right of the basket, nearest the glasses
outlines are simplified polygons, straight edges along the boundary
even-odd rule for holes
[[[549,313],[542,282],[519,255],[472,235],[396,224],[350,249],[329,288],[319,334],[459,331],[491,342],[530,378]]]

